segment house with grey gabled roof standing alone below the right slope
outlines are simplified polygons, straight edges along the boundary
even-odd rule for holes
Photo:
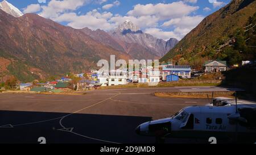
[[[226,71],[226,61],[205,61],[204,72],[205,73],[218,73]]]

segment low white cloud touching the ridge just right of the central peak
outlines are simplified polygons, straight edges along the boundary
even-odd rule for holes
[[[172,31],[163,31],[159,28],[147,28],[145,30],[146,33],[151,34],[152,36],[155,36],[157,38],[162,38],[163,40],[169,40],[171,37],[176,38],[180,40],[180,37],[175,34],[175,32]]]

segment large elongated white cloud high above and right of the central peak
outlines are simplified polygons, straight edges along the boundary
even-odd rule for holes
[[[160,19],[171,19],[180,18],[181,16],[191,14],[191,12],[199,9],[198,6],[189,6],[184,2],[173,2],[173,3],[158,3],[147,4],[147,5],[135,5],[134,9],[129,11],[127,15],[130,16],[145,16],[145,15],[155,15]]]

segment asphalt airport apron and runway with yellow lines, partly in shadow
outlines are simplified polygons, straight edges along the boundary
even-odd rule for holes
[[[215,90],[218,87],[166,87],[94,90],[85,95],[0,94],[0,143],[155,143],[135,128],[167,118],[207,99],[155,97],[155,91]],[[168,139],[167,143],[196,143]]]

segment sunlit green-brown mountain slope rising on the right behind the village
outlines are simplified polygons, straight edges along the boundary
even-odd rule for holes
[[[160,61],[173,60],[179,64],[189,64],[200,68],[205,60],[218,58],[218,48],[232,40],[237,29],[246,26],[254,15],[256,1],[232,1],[220,10],[207,16],[189,32],[175,48],[171,49]],[[215,53],[215,54],[214,54]],[[209,55],[214,55],[209,57]]]

